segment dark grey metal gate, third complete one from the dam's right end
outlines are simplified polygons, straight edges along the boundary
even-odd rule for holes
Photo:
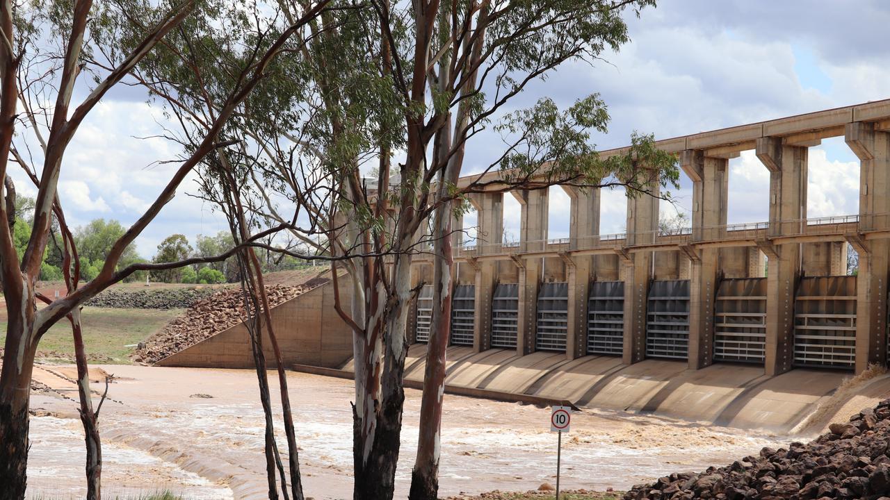
[[[646,310],[646,356],[689,357],[689,280],[652,281]]]

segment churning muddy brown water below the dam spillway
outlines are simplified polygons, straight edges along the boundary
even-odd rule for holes
[[[249,370],[101,367],[117,375],[101,411],[103,485],[113,495],[170,489],[186,498],[264,498],[263,412]],[[83,433],[69,369],[42,367],[52,389],[32,396],[28,496],[78,497]],[[276,378],[270,376],[272,394]],[[291,373],[300,463],[307,496],[352,496],[352,382]],[[211,398],[196,395],[208,395]],[[71,399],[65,399],[69,397]],[[549,408],[446,396],[441,494],[527,490],[553,482],[556,434]],[[417,445],[420,392],[406,391],[397,497],[408,493]],[[276,406],[276,412],[280,407]],[[285,449],[280,413],[279,445]],[[564,488],[623,489],[667,472],[730,463],[789,439],[653,415],[584,410],[563,436]]]

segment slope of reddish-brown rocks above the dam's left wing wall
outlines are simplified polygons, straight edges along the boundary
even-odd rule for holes
[[[275,307],[319,284],[320,282],[313,281],[301,286],[266,286],[269,305]],[[157,363],[160,359],[238,325],[245,319],[247,314],[240,288],[217,291],[206,299],[191,304],[182,315],[150,336],[134,352],[133,360],[137,363]]]

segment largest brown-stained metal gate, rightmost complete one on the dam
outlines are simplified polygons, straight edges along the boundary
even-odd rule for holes
[[[794,365],[853,369],[856,277],[800,278],[794,311]]]

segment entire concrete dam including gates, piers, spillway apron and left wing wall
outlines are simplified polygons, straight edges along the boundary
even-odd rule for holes
[[[859,212],[808,218],[808,149],[836,137],[860,161]],[[656,146],[676,154],[692,181],[689,228],[659,230],[658,181],[646,187],[653,196],[627,198],[622,234],[601,234],[601,190],[561,186],[571,203],[562,239],[547,239],[548,190],[486,182],[490,191],[470,195],[476,238],[453,235],[448,391],[791,431],[812,424],[816,408],[824,413],[845,379],[886,367],[890,100]],[[748,150],[769,173],[768,220],[729,224],[729,161]],[[506,242],[511,196],[521,227]],[[859,256],[855,276],[848,246]],[[433,308],[429,254],[412,257],[411,280],[419,294],[405,379],[417,388]],[[279,305],[272,321],[288,366],[348,377],[352,333],[331,288]],[[349,292],[341,286],[343,300]],[[246,328],[232,327],[158,364],[251,367],[247,343]],[[880,375],[845,397],[865,406],[888,384]]]

